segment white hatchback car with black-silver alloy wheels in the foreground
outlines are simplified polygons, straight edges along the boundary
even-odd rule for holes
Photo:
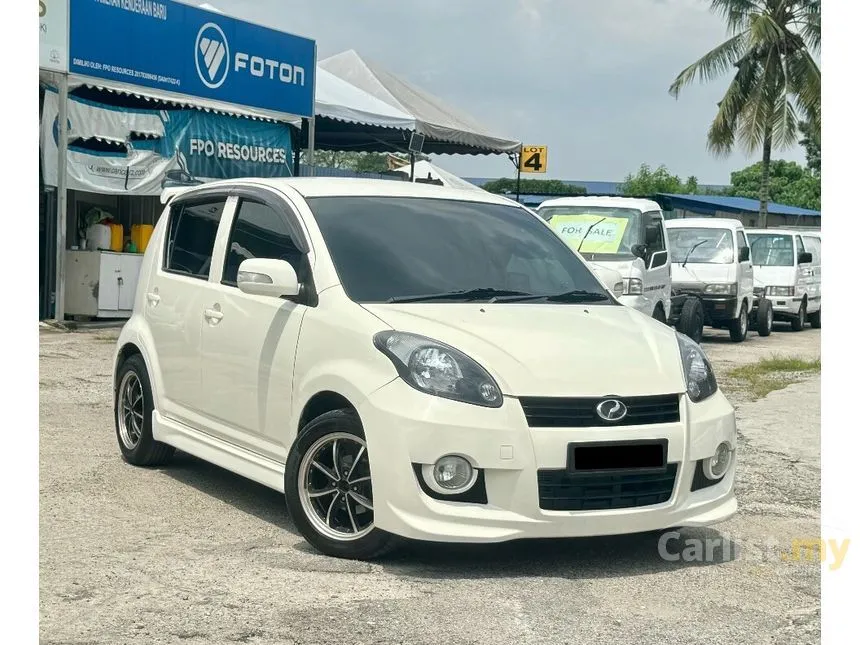
[[[114,382],[126,460],[179,448],[282,491],[334,556],[737,508],[734,410],[699,346],[489,193],[327,178],[181,192]]]

